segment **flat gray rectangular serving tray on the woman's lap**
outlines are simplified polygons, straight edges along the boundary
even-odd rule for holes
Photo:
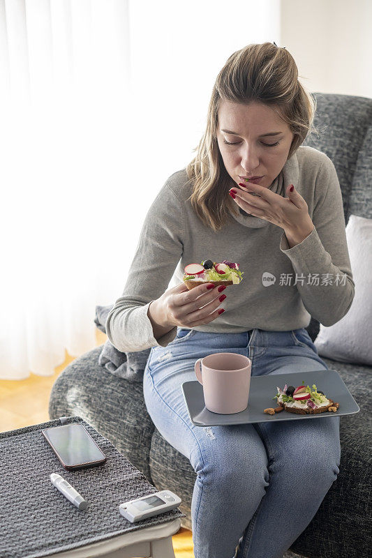
[[[313,387],[313,384],[324,391],[327,398],[339,403],[336,412],[325,411],[318,414],[295,414],[281,411],[280,413],[267,414],[264,409],[276,407],[273,400],[278,392],[276,386],[283,389],[288,386]],[[249,389],[248,407],[240,413],[219,414],[209,411],[204,404],[203,386],[195,382],[184,382],[182,392],[188,415],[196,426],[225,426],[229,424],[263,423],[268,421],[306,421],[313,418],[327,418],[355,414],[360,411],[357,402],[345,386],[345,382],[336,370],[313,370],[311,372],[290,372],[290,374],[274,374],[266,376],[252,376]]]

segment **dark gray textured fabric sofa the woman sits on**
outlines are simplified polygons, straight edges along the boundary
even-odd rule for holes
[[[332,159],[343,193],[345,222],[350,214],[372,218],[372,99],[313,93],[318,107],[315,125],[322,133],[304,144]],[[372,270],[371,270],[372,271]],[[314,340],[319,324],[308,326]],[[191,497],[196,474],[190,462],[163,439],[152,423],[142,383],[112,375],[98,364],[96,347],[75,359],[59,375],[50,396],[50,418],[78,415],[118,448],[159,490],[169,488],[182,499],[191,529]],[[360,412],[341,417],[340,474],[311,523],[292,544],[306,558],[371,556],[371,378],[372,367],[324,358],[337,370]]]

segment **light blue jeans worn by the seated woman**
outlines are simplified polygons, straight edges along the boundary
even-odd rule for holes
[[[178,328],[167,347],[151,348],[144,370],[144,401],[154,425],[197,474],[191,502],[195,558],[232,558],[238,543],[239,558],[282,558],[336,481],[340,418],[195,426],[181,384],[195,381],[195,361],[214,352],[248,356],[252,376],[328,367],[304,328]]]

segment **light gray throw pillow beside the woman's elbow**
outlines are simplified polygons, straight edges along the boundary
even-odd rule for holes
[[[372,365],[372,219],[351,215],[346,226],[355,297],[336,324],[320,325],[314,345],[320,356]]]

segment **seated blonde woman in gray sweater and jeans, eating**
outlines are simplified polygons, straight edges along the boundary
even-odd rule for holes
[[[305,327],[311,316],[338,322],[354,283],[336,170],[302,146],[315,103],[297,76],[271,43],[230,56],[198,153],[151,205],[107,317],[117,349],[151,347],[147,410],[197,474],[195,558],[231,558],[238,543],[239,558],[282,557],[339,472],[338,416],[201,428],[181,391],[195,360],[218,351],[249,356],[253,376],[328,369]],[[238,262],[241,284],[222,296],[207,284],[189,291],[184,266],[206,259]]]

